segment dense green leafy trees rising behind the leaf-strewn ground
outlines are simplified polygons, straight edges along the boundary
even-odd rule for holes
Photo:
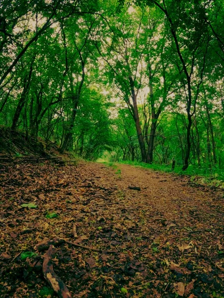
[[[1,0],[0,125],[96,160],[224,168],[222,0]]]

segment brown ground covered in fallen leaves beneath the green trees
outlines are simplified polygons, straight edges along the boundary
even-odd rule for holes
[[[35,246],[55,237],[88,246],[56,247],[54,271],[72,297],[224,297],[223,219],[223,192],[186,176],[123,164],[4,164],[0,297],[56,297],[42,273],[46,251]]]

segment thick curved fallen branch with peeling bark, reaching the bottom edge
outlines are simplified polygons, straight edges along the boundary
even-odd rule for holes
[[[72,298],[64,282],[58,277],[53,268],[52,259],[56,254],[56,249],[52,245],[48,248],[43,261],[43,275],[48,284],[57,293],[59,298]]]

